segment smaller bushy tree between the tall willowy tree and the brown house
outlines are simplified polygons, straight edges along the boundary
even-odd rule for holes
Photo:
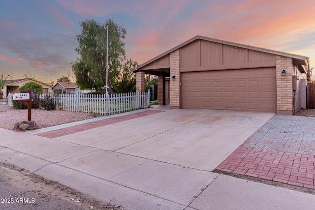
[[[138,66],[138,63],[131,59],[126,60],[126,62],[121,65],[119,75],[112,80],[115,92],[134,92],[136,90],[136,78],[134,73],[130,72],[130,70],[136,66]]]

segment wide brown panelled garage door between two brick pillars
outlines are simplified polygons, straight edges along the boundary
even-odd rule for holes
[[[183,108],[276,112],[276,69],[182,73]]]

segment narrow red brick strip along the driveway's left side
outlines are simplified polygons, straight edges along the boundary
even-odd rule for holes
[[[74,125],[71,127],[66,127],[66,128],[62,128],[62,129],[58,129],[58,130],[39,133],[36,135],[53,139],[53,138],[57,138],[60,136],[65,136],[68,134],[78,133],[78,132],[93,129],[96,127],[101,127],[104,125],[114,124],[117,122],[122,122],[122,121],[126,121],[126,120],[132,120],[135,118],[141,118],[141,117],[157,114],[160,112],[163,112],[163,111],[148,110],[148,111],[144,111],[144,112],[140,112],[140,113],[136,113],[136,114],[130,114],[130,115],[125,115],[125,116],[116,117],[116,118],[110,118],[110,119],[106,119],[106,120],[98,120],[98,121],[88,122],[88,123],[84,123],[84,124],[80,124],[80,125]]]

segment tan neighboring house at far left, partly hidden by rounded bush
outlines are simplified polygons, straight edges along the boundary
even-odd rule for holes
[[[17,79],[8,81],[3,87],[3,96],[7,97],[9,92],[15,93],[19,92],[19,88],[23,86],[25,83],[28,82],[35,82],[43,86],[43,93],[51,93],[54,86],[48,85],[46,83],[40,82],[38,80],[32,78],[25,78],[25,79]]]

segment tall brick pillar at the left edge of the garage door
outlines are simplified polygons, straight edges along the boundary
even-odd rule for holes
[[[179,50],[175,50],[170,54],[170,105],[173,109],[180,108],[180,63],[179,63]],[[173,76],[175,79],[173,80]]]

